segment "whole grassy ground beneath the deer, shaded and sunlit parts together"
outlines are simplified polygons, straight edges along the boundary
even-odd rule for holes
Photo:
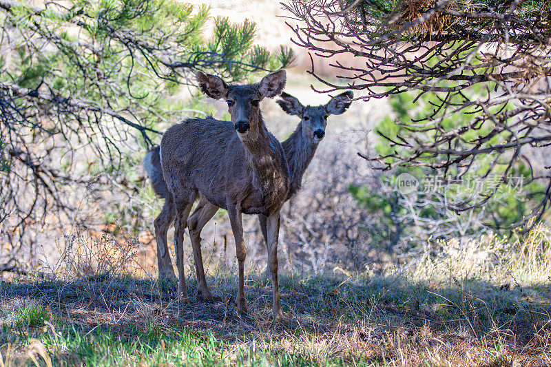
[[[74,258],[60,266],[63,276],[1,284],[0,359],[2,366],[546,366],[550,233],[540,226],[526,238],[431,244],[415,269],[382,276],[284,276],[288,318],[279,323],[270,317],[270,286],[256,275],[246,282],[250,314],[236,315],[236,279],[222,271],[209,279],[216,300],[193,300],[176,317],[176,283],[136,277],[132,260],[110,250],[122,242],[105,238],[94,251],[115,260]],[[191,294],[195,287],[189,280]],[[25,319],[41,322],[14,321],[25,304],[35,305]]]

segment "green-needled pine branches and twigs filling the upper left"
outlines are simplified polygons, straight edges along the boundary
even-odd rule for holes
[[[237,81],[291,62],[253,47],[249,21],[216,19],[205,39],[208,17],[171,0],[0,0],[0,244],[71,219],[79,185],[124,187],[134,153],[182,118],[171,96],[196,70]]]

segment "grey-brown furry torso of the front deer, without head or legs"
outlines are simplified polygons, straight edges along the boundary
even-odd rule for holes
[[[195,118],[169,128],[161,149],[174,200],[191,190],[223,209],[239,204],[246,214],[279,211],[280,197],[289,191],[289,168],[261,117],[256,126],[258,136],[243,140],[228,121]]]

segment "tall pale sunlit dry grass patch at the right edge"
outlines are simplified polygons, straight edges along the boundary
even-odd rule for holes
[[[497,286],[548,284],[551,275],[551,229],[544,224],[528,233],[428,243],[413,278],[450,282],[477,279]]]

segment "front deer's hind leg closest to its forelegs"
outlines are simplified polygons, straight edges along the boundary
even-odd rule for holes
[[[189,231],[189,237],[191,238],[191,247],[194,250],[197,293],[202,297],[203,301],[213,300],[213,297],[211,291],[209,291],[209,287],[207,286],[205,269],[202,264],[201,231],[202,228],[205,227],[205,224],[207,224],[214,214],[216,214],[216,211],[218,211],[218,207],[216,207],[216,205],[212,205],[207,200],[201,199],[199,206],[187,220],[187,229]]]

